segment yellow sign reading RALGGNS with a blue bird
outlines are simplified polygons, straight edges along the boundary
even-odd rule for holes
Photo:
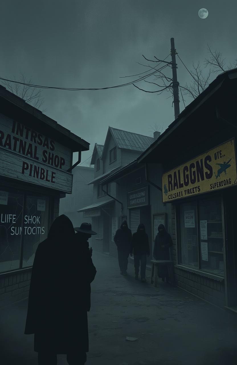
[[[163,202],[237,184],[234,139],[162,175]]]

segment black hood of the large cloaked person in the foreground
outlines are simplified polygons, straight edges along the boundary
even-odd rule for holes
[[[64,214],[59,215],[53,222],[48,232],[48,239],[53,241],[66,241],[75,235],[73,223]]]

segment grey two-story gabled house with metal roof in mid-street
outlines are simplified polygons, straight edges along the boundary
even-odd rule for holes
[[[93,230],[97,232],[91,239],[93,249],[111,253],[114,231],[127,219],[123,203],[116,197],[117,183],[108,184],[106,191],[101,181],[139,157],[152,142],[153,137],[109,127],[104,146],[95,144],[91,161],[94,179],[89,183],[93,184],[93,204],[78,210],[92,216]]]

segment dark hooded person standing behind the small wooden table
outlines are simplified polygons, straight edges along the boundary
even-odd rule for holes
[[[170,260],[170,247],[173,245],[170,234],[167,233],[163,224],[158,227],[158,234],[156,235],[153,256],[155,260]],[[166,278],[166,282],[169,281],[169,273],[167,265],[160,265],[158,276]]]

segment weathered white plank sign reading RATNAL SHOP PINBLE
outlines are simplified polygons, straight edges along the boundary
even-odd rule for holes
[[[71,193],[71,150],[0,114],[0,175]]]

